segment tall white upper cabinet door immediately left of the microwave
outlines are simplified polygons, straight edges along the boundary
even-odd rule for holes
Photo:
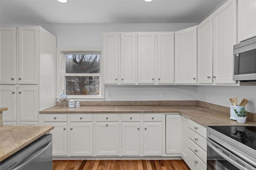
[[[236,44],[236,1],[229,0],[213,13],[213,81],[233,81],[233,45]]]

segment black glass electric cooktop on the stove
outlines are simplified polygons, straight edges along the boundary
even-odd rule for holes
[[[209,127],[256,150],[256,126],[209,126]]]

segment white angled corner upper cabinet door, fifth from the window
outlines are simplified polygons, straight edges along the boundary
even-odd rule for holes
[[[196,84],[197,26],[175,32],[175,83]]]

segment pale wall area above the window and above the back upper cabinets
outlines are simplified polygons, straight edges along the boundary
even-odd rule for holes
[[[102,32],[168,32],[196,25],[197,23],[41,24],[43,28],[57,37],[57,47],[88,49],[102,48]]]

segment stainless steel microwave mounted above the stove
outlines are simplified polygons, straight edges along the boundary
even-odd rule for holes
[[[233,80],[256,81],[256,37],[234,45]]]

